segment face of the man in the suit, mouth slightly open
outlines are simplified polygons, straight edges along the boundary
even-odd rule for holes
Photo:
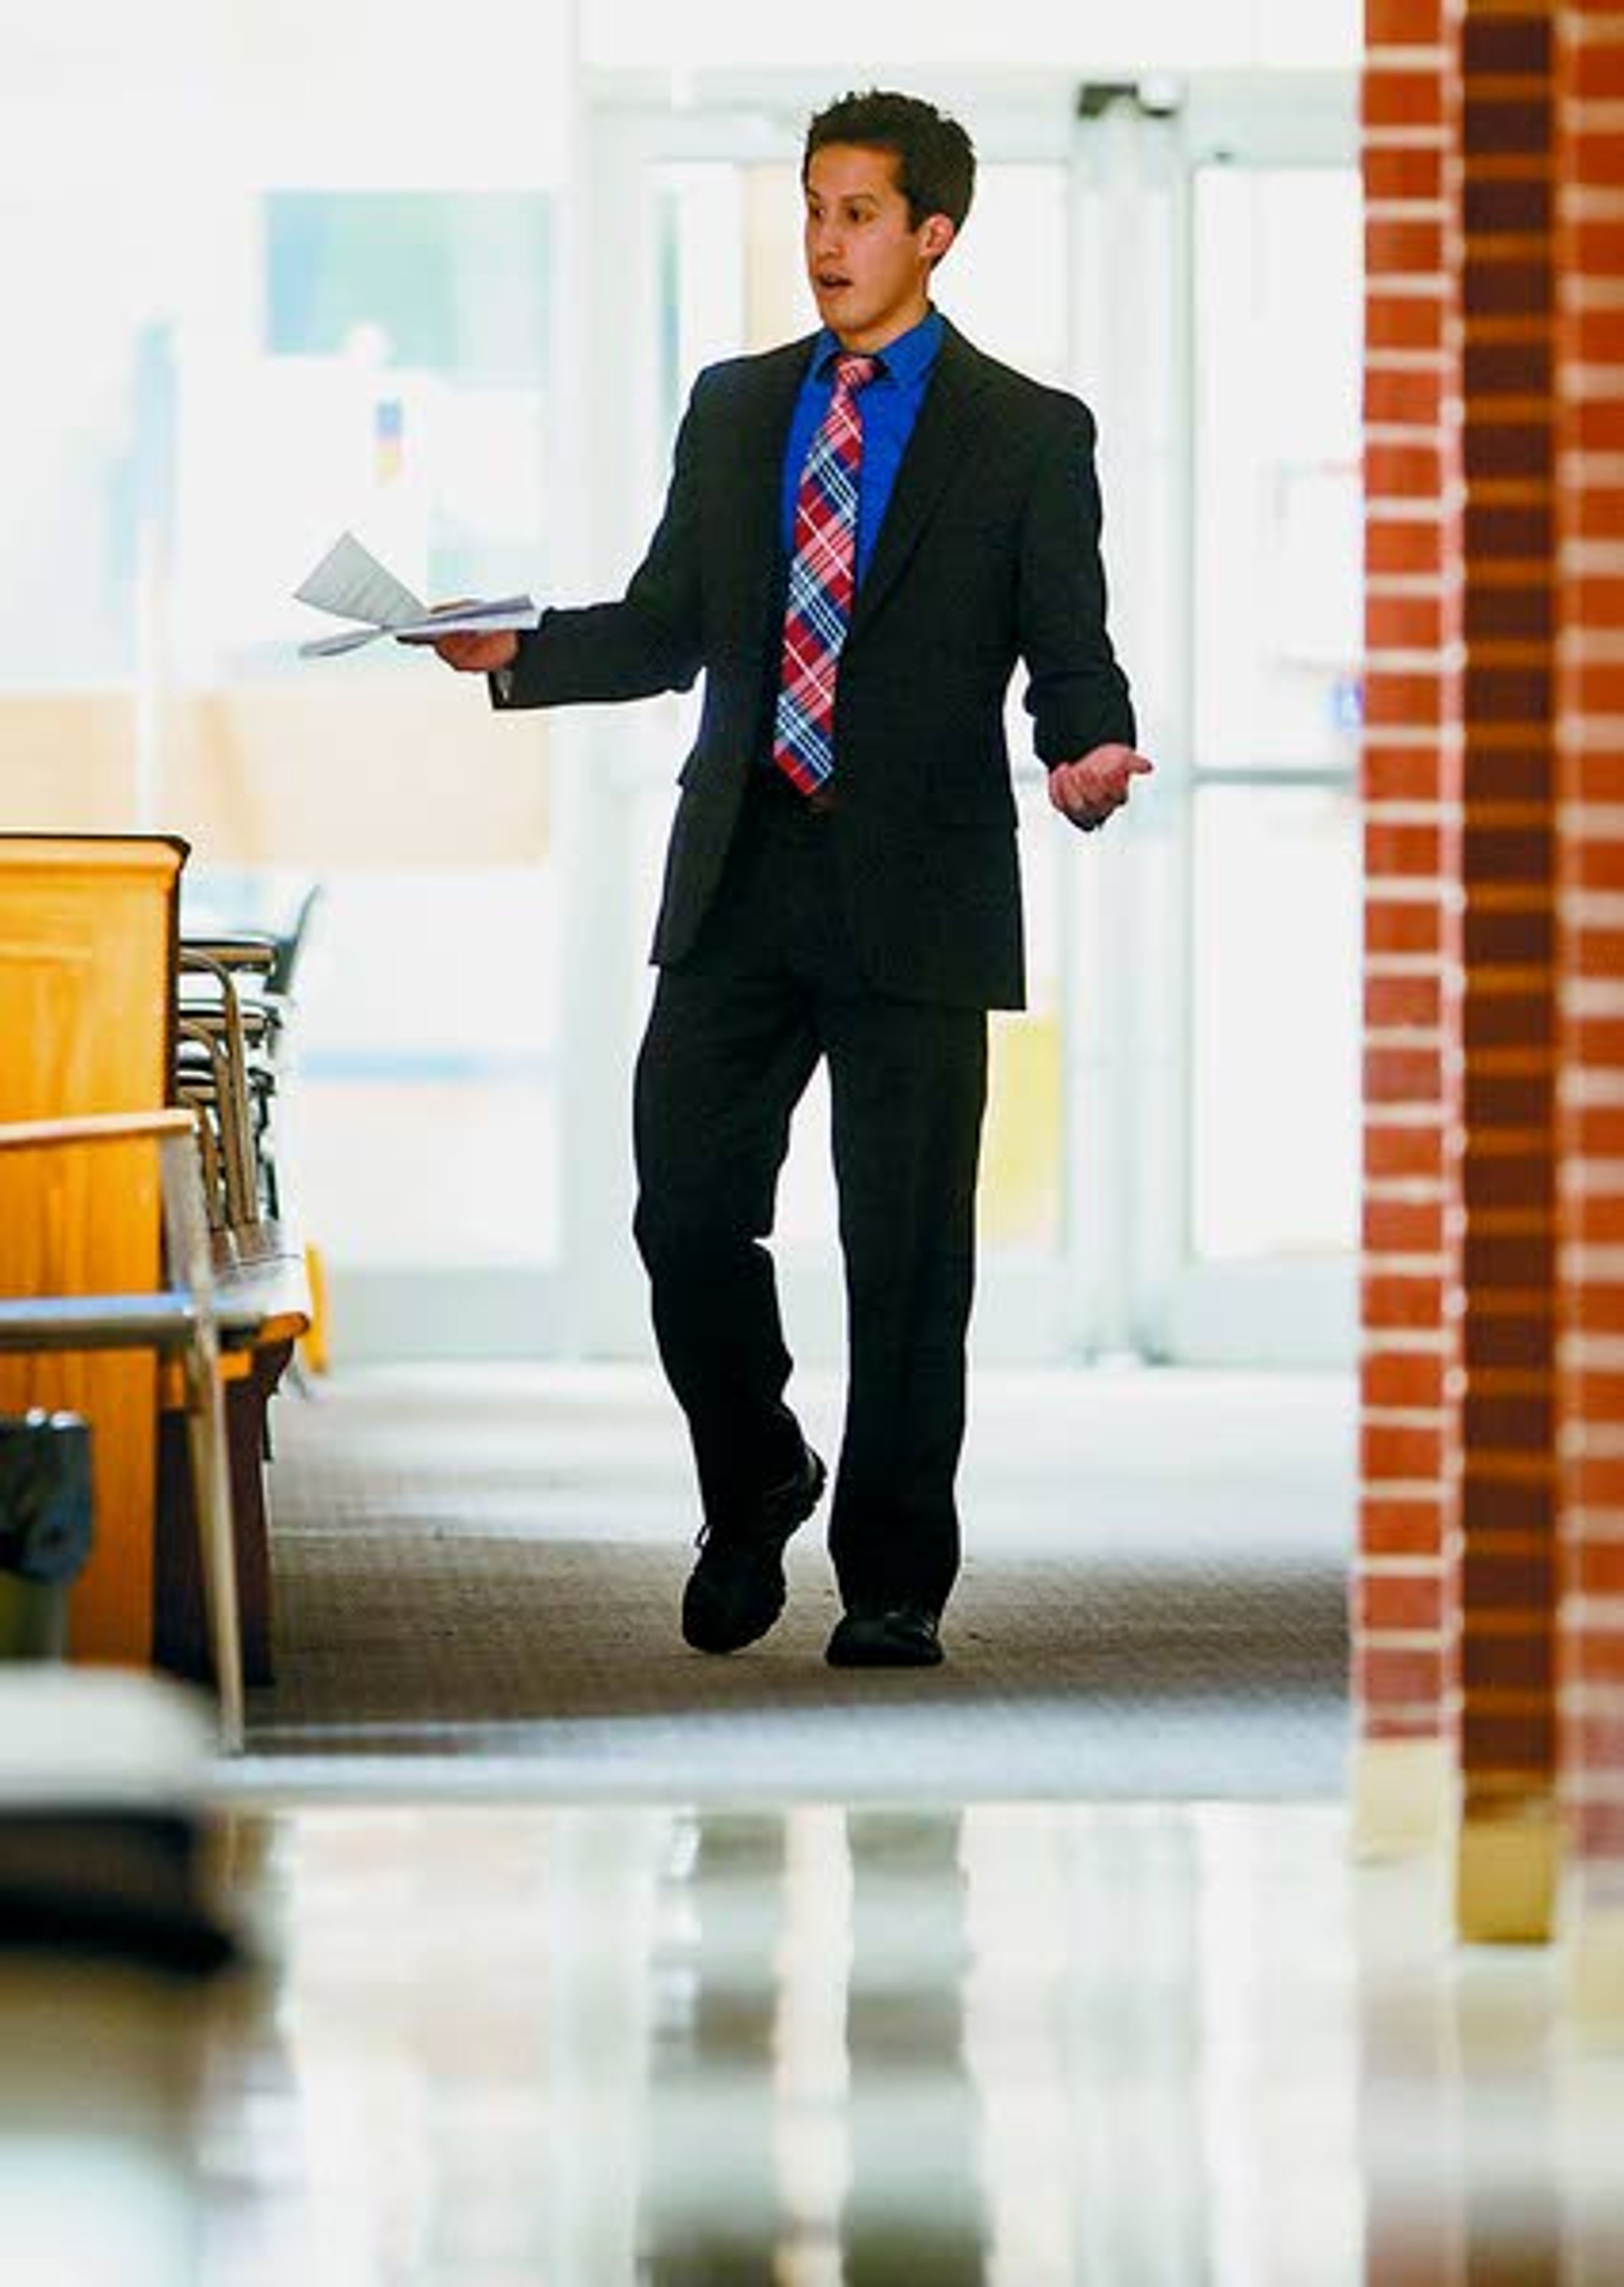
[[[931,263],[954,238],[947,215],[913,229],[899,165],[894,151],[862,144],[826,144],[807,165],[807,281],[846,350],[883,350],[924,318]]]

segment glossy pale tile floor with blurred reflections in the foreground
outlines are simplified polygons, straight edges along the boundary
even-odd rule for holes
[[[18,2287],[1624,2280],[1624,2054],[1334,1804],[329,1804],[0,1971]]]

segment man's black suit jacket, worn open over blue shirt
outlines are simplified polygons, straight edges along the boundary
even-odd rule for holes
[[[654,961],[679,961],[721,883],[748,773],[771,752],[785,615],[785,437],[812,341],[700,375],[666,510],[618,604],[549,611],[512,707],[684,691]],[[835,839],[846,922],[878,993],[1016,1009],[1025,997],[1004,700],[1018,659],[1043,762],[1135,741],[1105,631],[1093,419],[952,325],[858,590],[839,661]]]

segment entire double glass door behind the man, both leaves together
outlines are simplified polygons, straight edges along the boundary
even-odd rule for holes
[[[682,112],[608,96],[592,112],[579,403],[615,455],[595,533],[611,581],[652,528],[693,373],[817,322],[796,181],[817,96],[741,107],[695,82]],[[1045,805],[1020,684],[1011,693],[1032,1009],[995,1020],[977,1352],[1347,1354],[1352,96],[1283,96],[1237,121],[1231,89],[1221,126],[1194,96],[1080,117],[1059,85],[1016,105],[965,89],[958,107],[981,176],[940,304],[1100,416],[1114,629],[1157,759],[1135,812],[1084,842]],[[611,341],[659,354],[608,359],[595,343]],[[604,1274],[629,1251],[629,1171],[606,1157],[602,1116],[629,1084],[688,707],[560,718],[560,828],[574,821],[597,922],[615,917],[613,945],[599,935],[590,967],[570,965],[581,1084],[567,1066],[560,1091],[586,1123],[565,1146],[581,1178],[565,1176],[565,1196],[588,1210],[574,1246],[590,1347],[640,1340],[636,1276]],[[775,1235],[807,1358],[839,1356],[833,1233],[814,1091]]]

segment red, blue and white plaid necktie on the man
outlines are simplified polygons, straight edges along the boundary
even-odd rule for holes
[[[835,675],[851,620],[858,560],[862,467],[858,391],[876,370],[874,357],[835,359],[835,396],[812,439],[796,492],[796,547],[789,560],[773,762],[803,794],[814,794],[835,768]]]

